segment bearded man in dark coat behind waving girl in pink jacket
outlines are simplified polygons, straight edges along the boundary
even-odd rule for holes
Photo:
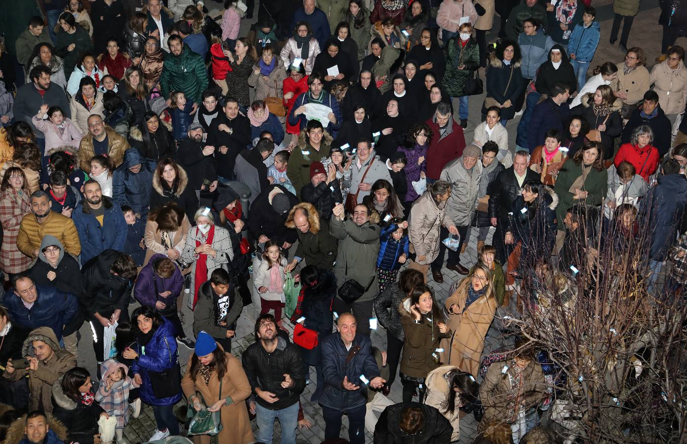
[[[65,90],[50,81],[50,69],[45,65],[37,65],[31,69],[29,77],[33,82],[20,86],[14,97],[14,120],[25,121],[34,130],[38,146],[45,148],[45,135],[36,130],[31,118],[36,115],[36,110],[43,105],[59,106],[64,117],[71,118],[69,100]]]

